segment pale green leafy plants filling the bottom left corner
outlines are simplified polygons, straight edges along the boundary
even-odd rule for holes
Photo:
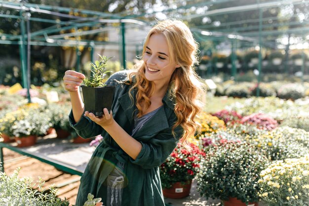
[[[42,190],[39,180],[38,190],[32,189],[30,178],[18,178],[20,168],[10,176],[0,172],[0,205],[1,206],[69,206],[69,202],[57,198],[57,190],[49,188],[49,193]]]

